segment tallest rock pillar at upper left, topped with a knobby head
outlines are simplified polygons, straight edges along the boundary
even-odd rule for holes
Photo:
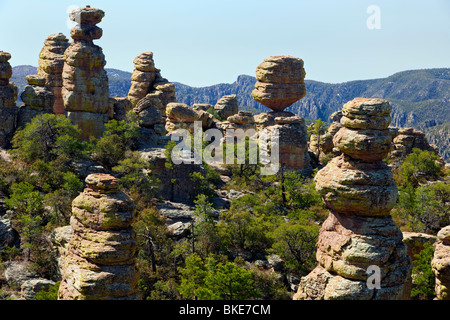
[[[93,43],[100,39],[97,27],[105,13],[86,6],[69,15],[78,24],[70,30],[73,42],[64,52],[61,90],[67,117],[81,129],[82,137],[100,137],[110,112],[108,77],[102,49]]]

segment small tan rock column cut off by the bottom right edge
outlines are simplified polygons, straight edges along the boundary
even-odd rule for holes
[[[437,234],[431,268],[436,277],[436,299],[450,300],[450,226]]]

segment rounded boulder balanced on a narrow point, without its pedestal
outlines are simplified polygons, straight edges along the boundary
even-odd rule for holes
[[[252,97],[266,107],[283,111],[306,94],[303,60],[291,56],[264,59],[256,68]]]

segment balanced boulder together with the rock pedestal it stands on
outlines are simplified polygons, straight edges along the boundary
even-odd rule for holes
[[[305,89],[303,60],[290,56],[274,56],[264,59],[256,68],[253,99],[272,109],[254,116],[257,130],[278,129],[280,164],[286,169],[311,171],[308,154],[308,135],[303,118],[283,111],[303,98]]]

